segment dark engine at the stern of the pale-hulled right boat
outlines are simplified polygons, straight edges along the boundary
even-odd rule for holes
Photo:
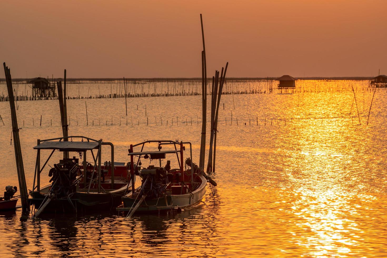
[[[140,195],[146,194],[148,198],[161,197],[166,188],[167,172],[164,167],[149,166],[141,169],[141,186]]]

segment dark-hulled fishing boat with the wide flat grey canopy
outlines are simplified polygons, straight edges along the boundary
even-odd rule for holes
[[[109,145],[110,161],[102,163],[102,146]],[[45,212],[82,212],[89,210],[111,210],[122,203],[121,197],[128,192],[130,180],[127,165],[114,161],[114,145],[110,142],[94,140],[84,136],[68,136],[48,140],[38,140],[33,190],[29,203],[37,217]],[[51,154],[41,167],[41,151],[51,150]],[[41,186],[41,172],[51,156],[58,150],[63,159],[52,164],[47,175],[49,184]],[[94,151],[97,151],[94,154]],[[79,158],[69,157],[75,152]],[[87,156],[88,155],[88,156]],[[86,159],[91,155],[91,162]],[[80,161],[82,159],[82,161]],[[48,180],[47,178],[47,180]],[[46,180],[46,181],[47,181]],[[135,178],[133,177],[133,182]],[[36,183],[36,184],[35,184]]]

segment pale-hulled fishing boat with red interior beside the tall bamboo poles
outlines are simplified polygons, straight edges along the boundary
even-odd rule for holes
[[[145,145],[157,144],[156,150],[144,151]],[[134,147],[141,147],[134,152]],[[185,147],[190,148],[190,157],[184,161]],[[162,150],[163,147],[168,150]],[[207,176],[194,162],[192,162],[192,145],[190,142],[171,140],[148,140],[139,144],[130,145],[130,174],[140,176],[141,186],[134,187],[122,197],[123,207],[118,211],[128,211],[128,217],[135,212],[159,212],[161,210],[187,210],[204,201],[207,180],[213,185],[216,183]],[[176,162],[166,160],[166,155],[175,157]],[[137,157],[137,162],[134,162]],[[142,162],[149,162],[143,167]],[[154,164],[152,164],[154,162]],[[175,164],[178,168],[172,168]]]

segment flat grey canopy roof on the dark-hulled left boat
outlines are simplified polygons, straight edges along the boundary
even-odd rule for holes
[[[98,142],[41,142],[34,147],[36,150],[60,150],[60,151],[82,151],[98,149]]]

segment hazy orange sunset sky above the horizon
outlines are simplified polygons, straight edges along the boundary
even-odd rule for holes
[[[386,0],[2,1],[12,77],[387,74]],[[1,73],[0,77],[4,78]]]

